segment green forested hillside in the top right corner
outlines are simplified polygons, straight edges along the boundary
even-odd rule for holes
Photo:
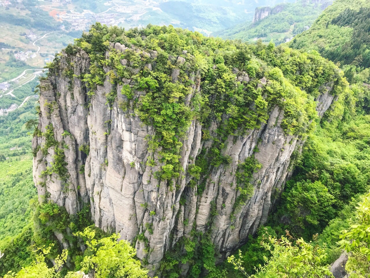
[[[370,1],[334,1],[290,47],[317,50],[342,65],[370,67]]]

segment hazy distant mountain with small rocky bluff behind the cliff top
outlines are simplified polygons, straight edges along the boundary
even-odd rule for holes
[[[257,39],[263,42],[273,40],[275,44],[280,44],[309,29],[320,13],[332,3],[333,0],[298,0],[275,7],[258,7],[252,21],[214,32],[212,36],[249,42]]]

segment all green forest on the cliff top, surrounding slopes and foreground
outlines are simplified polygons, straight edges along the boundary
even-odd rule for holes
[[[334,1],[309,30],[290,43],[290,47],[299,50],[275,47],[273,43],[225,42],[171,26],[124,31],[100,24],[92,26],[90,33],[65,49],[72,54],[83,49],[94,62],[90,66],[91,74],[83,77],[88,87],[87,97],[93,97],[95,84],[102,84],[107,75],[113,83],[121,82],[122,77],[135,78],[137,87],[134,89],[150,91],[139,101],[133,98],[131,87],[123,86],[122,95],[128,101],[120,105],[127,110],[135,107],[133,111],[141,120],[155,127],[156,135],[151,144],[160,146],[164,157],[169,158],[164,159],[166,167],[157,173],[159,179],[173,180],[181,173],[181,165],[176,160],[178,138],[190,119],[207,126],[209,119],[221,121],[228,115],[218,129],[219,137],[213,139],[212,153],[201,156],[191,169],[193,186],[198,183],[199,175],[208,171],[206,163],[210,167],[228,163],[229,158],[221,152],[222,138],[234,136],[236,130],[258,128],[266,121],[272,103],[279,103],[285,112],[284,132],[306,140],[303,148],[293,153],[292,176],[283,191],[275,192],[276,203],[267,222],[259,226],[255,235],[249,235],[246,244],[216,264],[219,254],[209,234],[194,230],[191,237],[183,238],[165,254],[158,275],[182,277],[181,266],[187,264],[191,266],[186,276],[189,278],[333,277],[329,265],[347,252],[349,277],[369,277],[370,29],[367,6],[364,0]],[[284,21],[281,16],[262,21],[267,24],[269,18]],[[284,24],[289,24],[289,18],[285,18]],[[266,30],[260,26],[260,30]],[[255,30],[253,36],[258,33]],[[148,60],[134,51],[121,56],[113,50],[110,57],[104,59],[109,42],[133,44],[143,51],[156,49],[159,53],[155,58],[156,67],[149,72],[144,67]],[[191,109],[184,105],[186,86],[191,85],[191,80],[180,73],[183,84],[171,83],[167,76],[174,67],[170,58],[180,57],[183,49],[194,56],[191,66],[202,72],[202,80],[208,84],[193,100]],[[136,76],[121,66],[122,59],[141,69]],[[105,66],[114,67],[115,72],[105,73]],[[49,65],[50,74],[57,67],[58,58]],[[248,73],[252,81],[248,85],[234,83],[233,68]],[[262,89],[258,82],[264,76],[269,85]],[[335,102],[320,119],[314,112],[314,98],[325,82],[333,84]],[[215,97],[212,99],[210,95]],[[116,97],[113,93],[108,95],[106,105],[112,105]],[[39,204],[31,200],[28,205],[36,189],[31,181],[31,135],[27,128],[31,133],[34,130],[34,136],[41,136],[35,128],[36,116],[28,112],[33,106],[29,104],[0,118],[0,202],[4,204],[0,206],[0,275],[4,278],[82,278],[84,272],[97,278],[148,277],[148,270],[141,266],[147,262],[135,257],[135,246],[125,240],[117,242],[119,235],[95,227],[89,205],[77,215],[69,215],[64,207],[53,202]],[[48,135],[50,132],[43,136]],[[58,142],[51,143],[63,149]],[[10,150],[13,146],[17,148]],[[54,165],[61,168],[54,167],[50,171],[63,175],[61,170],[65,165],[57,164],[58,155],[54,156]],[[239,185],[236,190],[240,192],[239,202],[245,203],[253,191],[251,176],[260,166],[253,158],[240,164],[244,170],[236,176]],[[201,194],[203,188],[198,186],[197,190]],[[17,202],[11,202],[13,199]],[[218,213],[213,209],[213,216]],[[26,219],[32,220],[24,224]],[[153,227],[148,224],[143,228],[150,233]],[[58,234],[63,234],[69,245],[61,246]],[[144,233],[138,234],[137,240],[147,241]]]

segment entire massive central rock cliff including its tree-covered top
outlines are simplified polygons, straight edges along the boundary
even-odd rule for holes
[[[90,203],[95,225],[161,274],[185,240],[206,235],[221,261],[256,232],[318,117],[314,98],[322,116],[342,79],[315,54],[144,30],[101,27],[55,59],[40,83],[33,172],[41,202],[70,214]]]

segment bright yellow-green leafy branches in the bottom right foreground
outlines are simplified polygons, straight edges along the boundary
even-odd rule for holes
[[[340,248],[348,252],[346,271],[351,278],[368,278],[370,273],[370,193],[356,208],[355,218],[349,219],[348,230],[341,231]],[[249,275],[243,267],[243,255],[239,250],[237,257],[228,257],[228,262],[246,277],[283,278],[283,277],[333,277],[326,263],[326,244],[305,242],[302,238],[293,240],[289,232],[280,239],[268,236],[261,241],[261,246],[271,253],[266,256],[265,265],[259,265],[256,274]]]

